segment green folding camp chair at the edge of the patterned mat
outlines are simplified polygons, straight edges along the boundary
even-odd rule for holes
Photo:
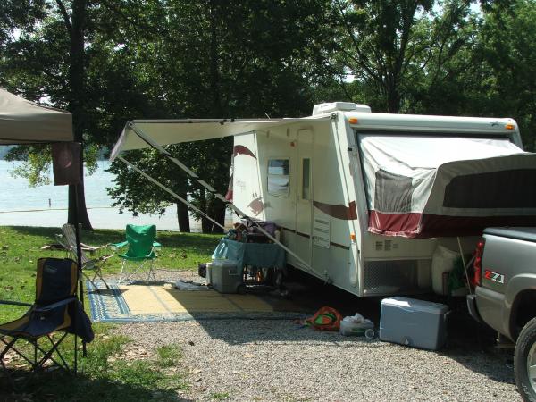
[[[116,250],[120,250],[122,247],[128,246],[126,253],[119,256],[123,262],[121,266],[121,274],[119,275],[119,282],[123,279],[130,281],[130,277],[138,272],[142,272],[145,265],[149,265],[147,272],[147,281],[156,281],[156,269],[155,269],[155,249],[161,247],[160,243],[156,242],[156,226],[155,225],[127,225],[126,229],[126,241],[121,243],[115,243],[111,246]],[[136,266],[129,272],[128,264],[135,264]]]

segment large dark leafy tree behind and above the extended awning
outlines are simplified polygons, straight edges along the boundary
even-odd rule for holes
[[[121,51],[129,51],[138,69],[146,71],[144,77],[153,90],[160,91],[155,95],[163,99],[162,110],[168,118],[304,115],[310,112],[314,75],[311,58],[322,49],[325,36],[321,28],[328,4],[316,0],[300,4],[273,0],[169,1],[167,14],[158,16],[158,37],[121,38]],[[144,14],[154,16],[147,7]],[[148,23],[141,21],[142,26]],[[147,112],[141,115],[149,117]],[[225,193],[229,138],[174,146],[172,152]],[[128,159],[147,170],[156,161],[163,163],[151,151],[132,153]],[[121,163],[114,164],[112,170],[118,174],[116,188],[110,189],[113,197],[118,197],[117,205],[134,212],[155,205],[155,198],[163,203],[171,201],[158,192],[147,199],[142,189],[147,182],[133,179]],[[160,177],[172,188],[179,188],[171,181],[172,172]],[[180,189],[187,191],[192,202],[223,223],[225,205],[195,183],[182,177],[180,180],[186,187]],[[129,192],[139,203],[133,205],[120,196],[121,192]],[[205,220],[202,225],[205,231],[219,230]]]

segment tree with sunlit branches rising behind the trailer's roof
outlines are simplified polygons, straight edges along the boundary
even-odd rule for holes
[[[348,95],[378,111],[411,109],[406,101],[415,86],[436,85],[464,49],[471,3],[448,0],[438,8],[433,0],[335,0],[341,40],[332,65],[355,78],[345,84]]]

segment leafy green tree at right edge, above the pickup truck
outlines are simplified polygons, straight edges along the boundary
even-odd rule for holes
[[[485,113],[515,118],[523,143],[536,149],[536,3],[510,2],[487,9],[475,54],[487,80],[480,93]]]

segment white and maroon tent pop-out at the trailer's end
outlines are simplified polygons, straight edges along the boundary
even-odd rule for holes
[[[426,238],[536,224],[536,155],[506,138],[359,135],[368,230]]]

